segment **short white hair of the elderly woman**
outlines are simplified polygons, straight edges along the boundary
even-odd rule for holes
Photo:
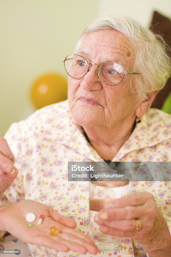
[[[130,84],[136,85],[141,99],[147,99],[149,93],[165,86],[171,75],[171,51],[162,36],[154,34],[150,26],[146,27],[136,17],[128,14],[100,16],[83,31],[75,49],[80,47],[89,33],[103,29],[120,31],[132,43],[135,50],[133,72],[140,72],[141,75],[130,75]]]

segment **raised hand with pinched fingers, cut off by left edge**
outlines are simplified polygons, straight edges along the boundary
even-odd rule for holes
[[[18,175],[14,155],[5,138],[0,137],[0,199]]]

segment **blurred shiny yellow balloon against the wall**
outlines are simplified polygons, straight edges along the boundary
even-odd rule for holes
[[[36,108],[42,108],[67,99],[67,80],[55,73],[39,77],[31,87],[31,100]]]

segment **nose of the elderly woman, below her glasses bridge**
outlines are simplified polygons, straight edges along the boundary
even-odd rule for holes
[[[102,88],[102,81],[97,74],[97,66],[92,65],[87,74],[82,78],[80,86],[87,91],[100,90]]]

